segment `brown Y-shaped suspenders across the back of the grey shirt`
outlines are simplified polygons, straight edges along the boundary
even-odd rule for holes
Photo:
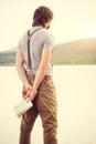
[[[32,69],[31,54],[30,54],[30,40],[31,40],[31,37],[34,34],[34,32],[36,32],[40,29],[42,28],[34,30],[31,34],[30,34],[30,30],[28,30],[28,66],[29,69]]]

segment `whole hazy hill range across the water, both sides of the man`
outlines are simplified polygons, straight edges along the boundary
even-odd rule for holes
[[[17,47],[0,52],[0,65],[14,65]],[[96,64],[96,39],[84,39],[56,44],[53,64]]]

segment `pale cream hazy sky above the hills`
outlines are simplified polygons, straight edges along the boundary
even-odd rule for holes
[[[54,12],[56,42],[96,37],[96,0],[0,0],[0,51],[18,45],[39,6]]]

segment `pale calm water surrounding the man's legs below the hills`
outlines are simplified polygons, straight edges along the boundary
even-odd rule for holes
[[[58,102],[58,144],[96,144],[96,66],[54,66]],[[22,83],[15,68],[0,66],[0,144],[19,144],[20,119],[13,106]],[[43,144],[40,117],[32,132],[33,144]],[[38,138],[36,138],[38,137]]]

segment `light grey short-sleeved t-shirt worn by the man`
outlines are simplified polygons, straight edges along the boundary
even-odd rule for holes
[[[36,29],[40,29],[40,27],[33,27],[30,30],[30,34],[33,33]],[[30,54],[31,54],[31,64],[32,70],[26,69],[26,72],[35,74],[39,64],[41,62],[42,56],[42,50],[43,49],[53,49],[54,45],[54,37],[46,30],[46,29],[40,29],[35,31],[30,40]],[[28,32],[20,39],[19,42],[19,49],[22,51],[25,65],[28,65]],[[46,75],[52,74],[52,64],[50,63],[49,70],[46,72]]]

